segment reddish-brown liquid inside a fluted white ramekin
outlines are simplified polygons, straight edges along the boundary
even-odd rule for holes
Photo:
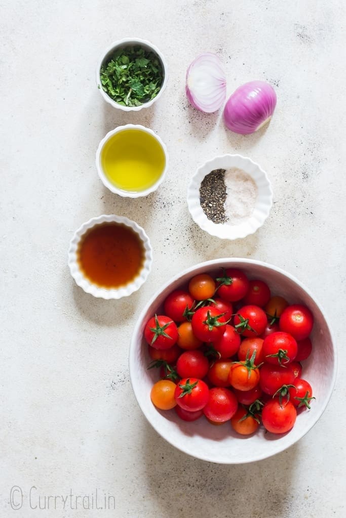
[[[77,252],[84,275],[100,287],[117,288],[133,281],[144,263],[140,236],[122,223],[101,223],[83,237]]]

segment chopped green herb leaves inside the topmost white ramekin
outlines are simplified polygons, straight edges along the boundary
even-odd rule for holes
[[[139,45],[118,49],[101,66],[103,90],[122,106],[141,106],[157,96],[163,82],[159,57]]]

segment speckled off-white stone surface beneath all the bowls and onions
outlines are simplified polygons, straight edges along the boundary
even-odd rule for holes
[[[344,2],[2,5],[0,514],[343,518]],[[169,65],[167,90],[139,113],[113,109],[95,84],[103,48],[128,36],[153,41]],[[273,85],[268,128],[239,136],[222,111],[189,106],[185,71],[203,51],[224,62],[228,95],[254,79]],[[167,179],[144,199],[116,196],[96,175],[99,141],[124,123],[151,127],[169,150]],[[274,190],[265,225],[232,242],[203,233],[186,204],[196,168],[228,152],[258,162]],[[145,285],[119,301],[85,294],[67,269],[74,230],[102,213],[135,220],[154,249]],[[339,346],[321,420],[289,450],[251,465],[173,449],[144,419],[128,373],[133,324],[151,294],[179,270],[227,256],[267,261],[303,281]]]

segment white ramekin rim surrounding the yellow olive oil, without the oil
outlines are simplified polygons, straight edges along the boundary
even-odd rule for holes
[[[103,149],[105,143],[107,142],[107,140],[109,140],[109,138],[113,137],[113,135],[115,135],[116,133],[120,133],[122,131],[127,131],[127,130],[131,130],[131,129],[143,131],[145,133],[148,133],[152,137],[154,137],[155,140],[161,146],[164,157],[165,157],[165,164],[164,164],[164,168],[161,172],[161,176],[158,178],[158,180],[155,183],[153,183],[153,185],[150,185],[150,187],[148,187],[148,189],[145,189],[143,191],[126,191],[124,189],[117,188],[112,182],[110,182],[108,180],[108,178],[105,174],[105,171],[103,170],[102,164],[101,164],[101,152],[102,152],[102,149]],[[119,194],[119,196],[123,196],[125,198],[139,198],[141,196],[147,196],[148,194],[156,191],[156,189],[162,183],[162,181],[166,175],[167,166],[168,166],[168,152],[167,152],[166,146],[162,142],[161,138],[158,135],[156,135],[156,133],[153,132],[153,130],[150,130],[150,128],[146,128],[145,126],[142,126],[141,124],[125,124],[124,126],[118,126],[114,130],[109,131],[107,133],[107,135],[105,135],[103,137],[103,139],[99,143],[98,149],[96,150],[96,169],[98,171],[98,175],[99,175],[102,183],[104,184],[104,186],[107,189],[109,189],[109,191],[112,191],[115,194]]]

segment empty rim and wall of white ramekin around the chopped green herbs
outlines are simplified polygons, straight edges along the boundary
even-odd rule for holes
[[[163,69],[163,82],[160,88],[160,91],[154,97],[153,99],[149,100],[147,103],[143,103],[140,106],[122,106],[119,103],[116,103],[109,95],[103,90],[102,84],[101,84],[101,78],[100,78],[100,71],[101,66],[106,63],[110,57],[112,57],[112,54],[119,48],[125,48],[125,47],[132,47],[134,45],[139,45],[144,48],[144,50],[154,52],[159,58],[159,61],[161,62],[162,69]],[[142,110],[142,108],[149,108],[151,105],[153,105],[156,100],[158,100],[164,89],[167,86],[167,79],[168,79],[168,66],[167,62],[164,59],[163,54],[160,52],[160,50],[153,45],[150,41],[147,41],[146,39],[141,38],[123,38],[118,41],[114,41],[111,45],[109,45],[101,54],[101,57],[99,59],[98,65],[96,67],[96,84],[98,86],[98,89],[104,98],[104,100],[112,105],[114,108],[118,108],[123,111],[139,111]]]

